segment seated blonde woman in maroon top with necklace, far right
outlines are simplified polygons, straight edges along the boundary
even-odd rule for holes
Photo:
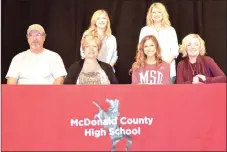
[[[177,65],[177,83],[226,83],[224,72],[206,54],[205,42],[198,34],[182,40],[180,52],[185,57]]]

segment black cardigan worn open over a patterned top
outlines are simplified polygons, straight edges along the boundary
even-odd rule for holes
[[[98,60],[98,63],[100,67],[104,70],[106,75],[108,76],[110,83],[118,84],[117,78],[113,72],[113,68],[111,67],[111,65],[101,62],[99,60]],[[84,65],[84,60],[80,60],[78,62],[73,63],[68,70],[68,74],[65,78],[64,84],[76,84],[76,81],[78,79],[80,71],[82,70],[83,65]]]

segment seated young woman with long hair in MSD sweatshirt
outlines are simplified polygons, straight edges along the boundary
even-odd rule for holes
[[[136,61],[132,65],[132,84],[169,84],[170,65],[161,58],[161,48],[153,35],[138,44]]]

